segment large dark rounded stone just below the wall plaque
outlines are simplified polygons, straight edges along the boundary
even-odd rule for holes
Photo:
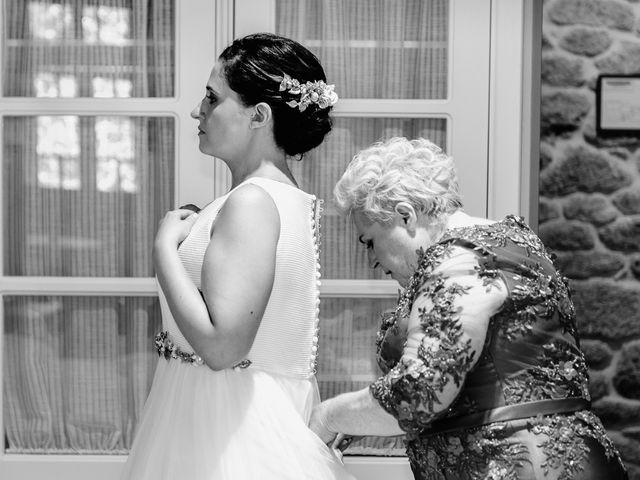
[[[576,146],[540,174],[540,194],[554,197],[573,192],[612,193],[631,182],[620,160],[596,149]]]

